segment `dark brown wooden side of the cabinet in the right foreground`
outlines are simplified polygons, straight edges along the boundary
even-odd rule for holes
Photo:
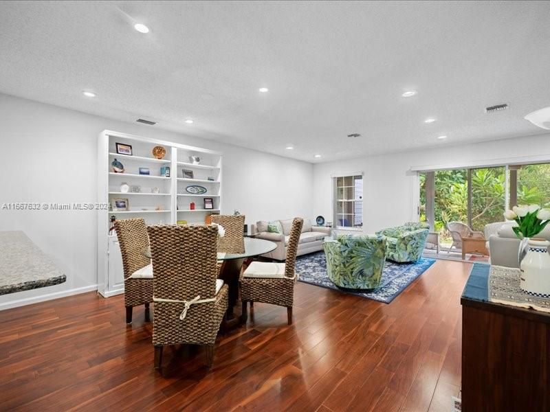
[[[550,411],[550,314],[462,304],[462,410]]]

